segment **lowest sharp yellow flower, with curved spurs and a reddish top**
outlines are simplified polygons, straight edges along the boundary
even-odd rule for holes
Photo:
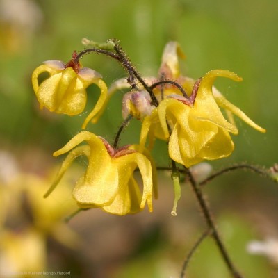
[[[88,145],[76,147],[83,141],[87,141]],[[125,215],[141,211],[147,202],[149,211],[152,211],[153,183],[156,182],[154,167],[137,149],[136,145],[114,149],[93,133],[83,131],[77,134],[54,153],[54,156],[59,156],[70,152],[44,197],[54,190],[74,158],[85,155],[88,158],[87,170],[76,182],[72,193],[81,208],[99,207],[108,213]],[[142,194],[133,177],[137,167],[142,175]]]

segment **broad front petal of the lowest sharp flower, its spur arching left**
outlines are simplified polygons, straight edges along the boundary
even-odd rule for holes
[[[101,138],[83,131],[55,152],[54,156],[69,152],[83,141],[87,141],[90,146],[90,159],[87,170],[77,181],[72,195],[76,202],[83,204],[83,208],[110,204],[118,190],[118,174]]]

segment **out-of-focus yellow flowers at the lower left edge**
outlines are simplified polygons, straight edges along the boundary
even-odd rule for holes
[[[30,277],[47,270],[49,238],[74,250],[80,246],[81,238],[61,221],[76,204],[62,199],[71,194],[66,179],[42,203],[38,196],[49,187],[48,177],[24,172],[8,152],[0,152],[0,166],[0,277]]]

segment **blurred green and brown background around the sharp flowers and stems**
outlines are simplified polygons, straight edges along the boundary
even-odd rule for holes
[[[44,177],[61,161],[52,158],[52,152],[81,131],[85,113],[68,117],[39,110],[31,74],[44,60],[70,60],[74,50],[83,50],[84,37],[97,42],[120,40],[142,76],[156,75],[163,47],[170,40],[177,40],[186,54],[181,62],[183,74],[197,79],[212,69],[236,72],[243,82],[219,79],[216,86],[267,133],[258,133],[238,120],[234,153],[211,164],[218,169],[242,161],[265,167],[277,162],[276,0],[0,3],[1,151],[10,152],[22,171]],[[106,56],[85,56],[82,63],[101,72],[108,85],[125,76],[120,65]],[[85,111],[92,109],[97,96],[97,88],[89,88]],[[104,116],[90,124],[89,131],[113,140],[122,122],[121,97],[122,92],[113,96]],[[139,124],[131,123],[121,143],[137,143],[139,132]],[[169,164],[166,154],[165,145],[158,143],[158,165]],[[50,241],[47,269],[72,270],[72,277],[179,277],[184,257],[204,229],[187,187],[183,186],[177,218],[170,215],[172,186],[165,175],[152,215],[144,212],[120,218],[97,210],[81,213],[70,225],[85,246],[65,256],[64,247]],[[246,245],[253,239],[278,238],[277,185],[250,172],[238,172],[213,181],[205,192],[224,242],[245,277],[275,277],[271,276],[275,275],[273,262],[247,254]],[[188,277],[229,277],[210,239],[195,255]]]

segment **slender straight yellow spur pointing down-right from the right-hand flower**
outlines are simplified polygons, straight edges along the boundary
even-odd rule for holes
[[[224,97],[215,97],[215,101],[220,107],[227,109],[228,111],[231,111],[232,113],[240,117],[241,120],[252,126],[253,129],[256,129],[257,131],[263,133],[266,132],[265,129],[263,129],[261,126],[258,126],[249,117],[247,117],[247,115],[245,115],[245,113],[243,113],[240,108],[234,106],[234,104],[231,104],[231,102],[227,101],[227,99],[225,99]]]

